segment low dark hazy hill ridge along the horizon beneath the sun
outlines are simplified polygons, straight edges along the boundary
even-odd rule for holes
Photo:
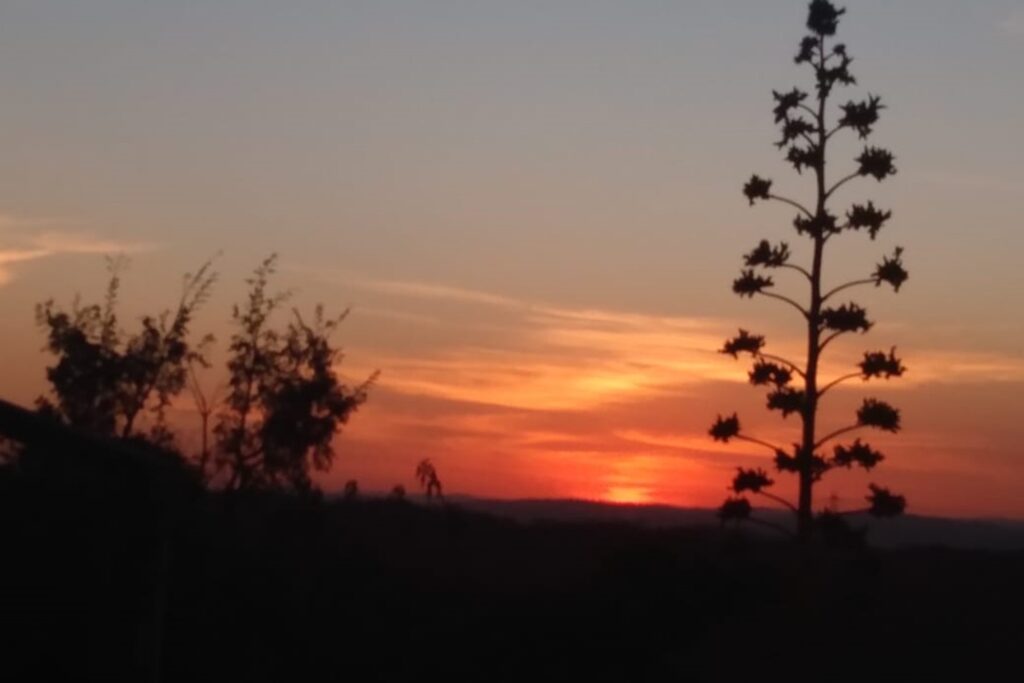
[[[523,523],[539,521],[607,522],[640,524],[651,528],[718,525],[715,510],[669,505],[625,505],[579,500],[489,500],[453,497],[451,503]],[[759,511],[766,519],[785,524],[787,513]],[[868,539],[885,548],[946,546],[975,550],[1024,550],[1024,522],[1002,519],[951,519],[905,515],[897,519],[851,517],[868,527]],[[761,531],[751,525],[752,530]],[[764,531],[771,533],[771,531]]]

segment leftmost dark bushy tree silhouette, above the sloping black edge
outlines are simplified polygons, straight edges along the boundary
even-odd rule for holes
[[[118,319],[118,296],[124,262],[108,261],[110,281],[101,304],[83,306],[76,299],[70,310],[52,300],[36,307],[36,319],[46,332],[46,348],[56,356],[46,378],[52,399],[40,408],[67,424],[97,436],[137,436],[138,418],[153,418],[147,437],[168,442],[166,410],[181,392],[190,364],[205,364],[205,345],[194,344],[189,326],[209,297],[216,280],[210,262],[184,276],[181,297],[173,310],[145,315],[141,329],[127,333]]]

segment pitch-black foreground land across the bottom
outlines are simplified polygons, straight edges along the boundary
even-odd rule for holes
[[[801,552],[715,526],[226,497],[171,465],[82,462],[0,468],[0,647],[25,672],[5,680],[1020,675],[1022,552]]]

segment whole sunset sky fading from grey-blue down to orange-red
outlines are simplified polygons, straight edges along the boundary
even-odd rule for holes
[[[904,430],[867,434],[887,461],[818,496],[861,507],[878,482],[912,512],[1024,518],[1024,2],[846,4],[862,86],[841,99],[883,96],[872,140],[899,173],[840,195],[894,218],[837,241],[826,280],[896,245],[910,280],[857,293],[877,325],[825,374],[893,345],[909,372],[829,398],[823,426],[870,395]],[[717,349],[742,327],[800,353],[799,318],[730,283],[763,238],[807,256],[792,210],[740,193],[752,172],[812,191],[772,145],[772,89],[808,85],[805,7],[7,0],[0,395],[46,390],[34,306],[98,299],[104,255],[129,258],[129,323],[215,258],[198,328],[217,357],[244,279],[279,253],[296,305],[351,309],[340,373],[381,371],[325,488],[413,488],[430,458],[451,493],[717,505],[736,466],[771,465],[711,441],[718,414],[796,438]],[[837,144],[835,168],[858,151]],[[187,442],[186,401],[176,419]]]

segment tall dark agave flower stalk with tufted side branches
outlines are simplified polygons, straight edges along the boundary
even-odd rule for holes
[[[874,351],[864,354],[856,372],[842,375],[826,382],[819,380],[821,355],[825,348],[841,336],[865,333],[872,323],[867,312],[856,303],[838,304],[836,297],[855,287],[889,285],[895,291],[906,281],[903,268],[903,250],[897,247],[892,256],[884,257],[870,275],[841,284],[829,289],[823,286],[823,263],[825,247],[837,237],[846,232],[865,231],[874,240],[892,212],[876,208],[871,202],[854,204],[845,217],[829,210],[829,203],[836,193],[848,182],[857,178],[884,180],[893,175],[892,153],[865,145],[854,162],[853,171],[829,183],[826,178],[826,147],[837,134],[855,133],[866,139],[879,120],[883,109],[877,95],[868,95],[861,101],[850,100],[839,106],[839,117],[829,122],[829,97],[838,87],[856,83],[850,73],[852,58],[842,43],[834,43],[840,16],[845,9],[839,9],[827,0],[813,0],[807,19],[810,34],[803,39],[796,56],[799,65],[808,65],[814,76],[814,94],[800,88],[787,92],[774,92],[775,123],[781,128],[782,137],[776,142],[785,150],[786,160],[798,173],[804,169],[813,172],[815,180],[814,203],[805,206],[792,199],[776,195],[772,181],[754,175],[743,186],[743,194],[751,205],[759,200],[777,201],[798,210],[794,227],[798,236],[810,242],[813,257],[805,267],[791,261],[786,243],[769,243],[763,240],[744,257],[745,268],[733,282],[733,291],[740,297],[764,296],[782,301],[799,311],[806,323],[807,353],[802,362],[796,362],[766,353],[765,338],[745,330],[726,341],[721,349],[733,357],[749,353],[754,358],[750,381],[756,386],[769,389],[768,409],[781,413],[783,418],[796,414],[803,429],[799,443],[792,452],[748,435],[742,431],[736,415],[719,416],[711,428],[711,435],[719,441],[741,439],[767,446],[775,454],[775,468],[779,472],[796,474],[799,478],[799,497],[796,505],[770,494],[768,488],[774,483],[763,469],[740,468],[733,479],[731,489],[735,495],[722,506],[723,519],[746,518],[751,514],[751,504],[743,494],[755,494],[779,502],[791,508],[797,517],[798,531],[802,539],[810,536],[813,520],[814,484],[826,472],[836,468],[854,466],[870,470],[883,460],[883,455],[859,438],[852,443],[835,445],[833,453],[823,452],[825,445],[838,437],[862,428],[874,428],[888,432],[899,431],[900,414],[890,404],[867,398],[856,413],[852,424],[836,429],[823,436],[818,434],[818,416],[821,398],[839,384],[861,378],[871,380],[899,377],[905,371],[896,356],[895,349],[888,352]],[[767,274],[772,270],[786,269],[797,273],[808,284],[809,297],[806,303],[777,294],[775,282]],[[801,386],[802,385],[802,386]],[[903,512],[905,500],[886,488],[871,484],[866,499],[866,511],[877,516],[892,516]],[[835,515],[828,517],[835,522]]]

